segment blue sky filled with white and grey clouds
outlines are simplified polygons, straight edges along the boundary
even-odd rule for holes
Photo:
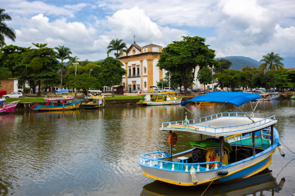
[[[103,59],[112,39],[129,47],[167,46],[201,36],[216,57],[260,60],[271,51],[295,57],[293,0],[0,0],[12,17],[16,42],[66,46],[73,56]]]

